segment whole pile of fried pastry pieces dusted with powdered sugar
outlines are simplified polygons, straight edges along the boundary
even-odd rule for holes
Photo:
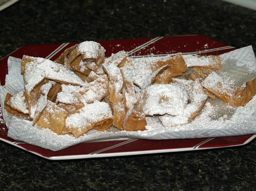
[[[193,67],[186,79],[176,78]],[[91,129],[146,130],[146,116],[159,115],[165,127],[191,122],[207,98],[244,106],[256,92],[256,79],[234,87],[215,70],[219,55],[181,53],[146,62],[120,51],[105,58],[97,42],[66,49],[55,61],[23,56],[25,92],[7,94],[5,109],[29,116],[33,125],[79,137]],[[188,79],[190,78],[190,79]]]

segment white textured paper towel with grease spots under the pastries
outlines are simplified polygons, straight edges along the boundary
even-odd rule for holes
[[[223,69],[217,73],[236,86],[256,78],[256,59],[251,46],[220,55]],[[153,58],[154,59],[154,58]],[[140,139],[185,139],[202,137],[236,136],[256,133],[256,96],[244,107],[233,107],[226,102],[208,99],[199,115],[189,124],[165,128],[157,116],[146,117],[145,131],[120,131],[114,127],[106,131],[90,130],[79,138],[70,134],[58,135],[49,129],[36,128],[27,118],[9,114],[3,108],[7,92],[15,95],[24,91],[20,74],[21,59],[9,57],[5,86],[0,86],[0,102],[8,127],[8,137],[53,151],[85,141]]]

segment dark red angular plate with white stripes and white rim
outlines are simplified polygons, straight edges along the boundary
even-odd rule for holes
[[[111,40],[99,41],[99,43],[106,49],[106,57],[109,57],[111,53],[116,53],[121,50],[127,51],[129,55],[133,57],[143,57],[148,55],[159,56],[178,52],[183,54],[217,55],[235,49],[232,46],[228,46],[200,35]],[[22,56],[26,54],[33,57],[55,60],[66,48],[74,44],[76,43],[23,46],[9,55],[16,58],[22,58]],[[5,84],[5,75],[8,73],[7,59],[9,55],[0,60],[1,85]],[[256,134],[248,134],[242,136],[197,139],[126,139],[86,142],[60,151],[51,151],[8,138],[8,129],[3,122],[1,111],[0,118],[0,140],[51,160],[140,155],[232,147],[245,145],[256,137]]]

